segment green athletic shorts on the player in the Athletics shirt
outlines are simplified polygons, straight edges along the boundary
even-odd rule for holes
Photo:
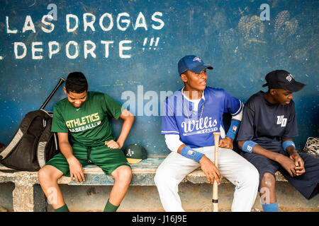
[[[114,169],[127,165],[128,161],[121,149],[111,149],[106,145],[91,147],[91,152],[88,147],[74,144],[72,146],[74,157],[79,160],[82,167],[86,165],[94,164],[103,169],[105,174],[111,174]],[[89,154],[88,154],[89,152]],[[89,160],[88,160],[89,157]],[[50,159],[46,165],[52,165],[53,167],[59,169],[65,176],[69,177],[69,163],[67,162],[65,156],[62,153],[58,153],[52,159]]]

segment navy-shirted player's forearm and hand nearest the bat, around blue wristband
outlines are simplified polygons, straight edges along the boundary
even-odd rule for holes
[[[242,145],[245,143],[245,141],[238,141],[238,147],[242,149]],[[279,162],[279,164],[286,169],[287,172],[291,175],[291,177],[297,176],[296,169],[295,169],[295,163],[291,158],[286,157],[285,155],[281,155],[279,153],[272,152],[270,150],[267,150],[265,148],[262,148],[262,146],[254,145],[254,149],[252,149],[252,153],[257,155],[262,155],[264,157],[269,158],[270,160],[274,160],[276,162]]]

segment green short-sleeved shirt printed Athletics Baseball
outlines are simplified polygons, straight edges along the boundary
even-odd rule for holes
[[[108,117],[118,119],[121,113],[122,105],[106,93],[88,92],[80,107],[67,98],[55,104],[51,131],[70,133],[71,141],[80,145],[104,145],[116,139]]]

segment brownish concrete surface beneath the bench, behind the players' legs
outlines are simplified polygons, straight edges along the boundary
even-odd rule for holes
[[[69,186],[62,184],[60,188],[71,211],[101,211],[111,191],[111,186]],[[13,189],[13,183],[0,184],[0,206],[7,210],[13,209]],[[234,191],[235,186],[233,184],[227,183],[219,186],[218,203],[220,211],[230,211]],[[211,211],[211,194],[212,186],[209,184],[186,182],[179,185],[181,203],[186,211]],[[281,211],[319,212],[319,196],[315,196],[308,201],[286,182],[277,182],[276,194]],[[47,210],[51,212],[52,207],[48,205]],[[118,211],[162,212],[164,210],[155,186],[130,186]],[[259,195],[257,195],[252,211],[262,211]]]

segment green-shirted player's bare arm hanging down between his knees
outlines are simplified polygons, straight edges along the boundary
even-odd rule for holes
[[[57,137],[59,138],[59,147],[61,153],[65,155],[67,162],[69,163],[69,174],[71,180],[75,179],[77,183],[84,182],[84,173],[83,167],[79,160],[73,155],[72,147],[69,144],[69,138],[67,133],[57,133]]]

